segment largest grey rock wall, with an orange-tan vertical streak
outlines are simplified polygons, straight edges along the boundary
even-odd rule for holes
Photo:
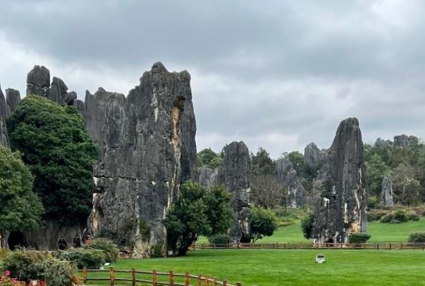
[[[180,183],[197,179],[190,74],[155,63],[127,98],[99,88],[86,93],[84,105],[77,103],[99,144],[88,220],[92,234],[131,238],[139,254],[164,243],[162,220]],[[147,223],[150,238],[142,238],[132,221]]]

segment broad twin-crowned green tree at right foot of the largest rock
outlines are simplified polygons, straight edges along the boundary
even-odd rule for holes
[[[198,183],[187,181],[164,219],[168,247],[176,255],[185,255],[199,235],[224,233],[232,219],[230,195],[223,187],[214,187],[209,193]]]

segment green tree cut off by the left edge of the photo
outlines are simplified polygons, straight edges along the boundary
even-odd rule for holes
[[[32,175],[18,152],[0,145],[0,235],[7,245],[11,231],[35,230],[43,212],[42,202],[32,192]]]

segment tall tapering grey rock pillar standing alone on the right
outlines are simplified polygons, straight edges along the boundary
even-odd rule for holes
[[[318,243],[347,242],[351,233],[367,232],[364,146],[357,118],[340,122],[326,165],[312,234]]]

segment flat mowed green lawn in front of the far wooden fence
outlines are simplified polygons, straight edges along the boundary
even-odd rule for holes
[[[316,264],[316,254],[324,254],[326,263]],[[425,252],[421,250],[204,249],[185,257],[121,259],[113,266],[176,273],[190,271],[251,286],[425,285]],[[107,275],[104,273],[104,277]],[[130,278],[130,273],[116,277]],[[128,284],[118,282],[118,285]]]

